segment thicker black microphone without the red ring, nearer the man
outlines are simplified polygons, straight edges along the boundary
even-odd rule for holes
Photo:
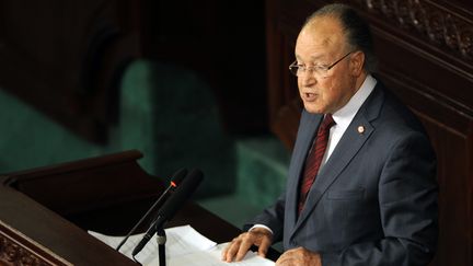
[[[177,187],[175,193],[171,195],[169,200],[163,205],[163,207],[158,211],[158,218],[145,233],[145,236],[138,243],[138,245],[132,251],[131,255],[136,256],[148,243],[151,236],[161,229],[163,224],[173,218],[174,213],[181,208],[187,198],[195,192],[197,186],[203,181],[204,176],[199,170],[193,170],[188,174],[188,177]]]

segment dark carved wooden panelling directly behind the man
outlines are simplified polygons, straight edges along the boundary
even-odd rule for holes
[[[302,22],[326,2],[266,1],[269,122],[289,149],[301,103],[287,68]],[[431,265],[473,265],[473,3],[345,2],[371,24],[377,77],[418,115],[437,152],[440,239]]]

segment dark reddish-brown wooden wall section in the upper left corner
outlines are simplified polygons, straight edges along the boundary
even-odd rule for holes
[[[116,80],[139,56],[139,1],[0,0],[0,88],[86,139],[116,120]]]

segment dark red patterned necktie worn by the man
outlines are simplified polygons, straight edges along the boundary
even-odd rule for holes
[[[298,213],[302,211],[307,195],[315,181],[316,174],[319,173],[319,169],[327,147],[330,129],[333,125],[335,125],[335,122],[333,120],[332,115],[326,114],[319,127],[318,135],[312,143],[312,149],[305,159],[303,180],[299,194]]]

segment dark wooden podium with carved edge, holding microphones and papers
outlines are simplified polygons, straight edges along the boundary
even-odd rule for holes
[[[125,235],[163,192],[141,157],[126,151],[0,176],[0,265],[136,265],[86,230]],[[168,227],[183,224],[219,243],[240,233],[193,203]]]

